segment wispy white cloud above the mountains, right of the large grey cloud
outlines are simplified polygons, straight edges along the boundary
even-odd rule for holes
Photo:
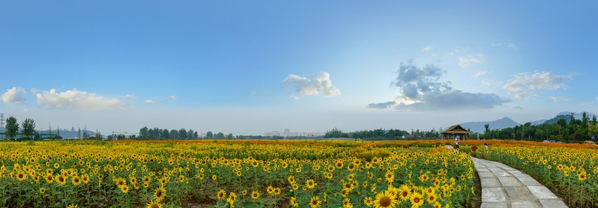
[[[502,88],[508,90],[508,94],[515,98],[529,99],[533,96],[540,96],[538,90],[565,89],[566,80],[572,79],[570,75],[552,75],[550,72],[535,71],[534,73],[516,73],[513,79],[508,80]]]

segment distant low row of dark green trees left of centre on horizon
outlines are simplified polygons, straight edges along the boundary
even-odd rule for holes
[[[205,139],[234,139],[233,134],[224,135],[222,132],[218,132],[214,134],[213,132],[206,132]],[[160,128],[141,128],[139,130],[139,137],[132,137],[131,139],[154,139],[154,140],[165,140],[165,139],[180,139],[180,140],[190,140],[190,139],[204,139],[204,137],[199,137],[199,132],[196,132],[192,129],[185,130],[181,128],[180,130],[168,130],[168,129],[160,129]]]

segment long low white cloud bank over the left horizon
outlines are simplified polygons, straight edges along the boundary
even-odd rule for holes
[[[56,92],[56,89],[35,94],[38,105],[45,105],[47,109],[62,110],[110,110],[128,107],[130,102],[117,98],[97,96],[94,93],[78,89]]]

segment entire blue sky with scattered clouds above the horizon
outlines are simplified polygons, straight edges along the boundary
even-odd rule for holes
[[[596,1],[3,1],[0,112],[263,135],[598,113]]]

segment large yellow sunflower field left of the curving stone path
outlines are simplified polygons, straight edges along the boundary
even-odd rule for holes
[[[475,198],[470,156],[444,146],[30,141],[1,142],[0,153],[0,207],[462,207]]]

